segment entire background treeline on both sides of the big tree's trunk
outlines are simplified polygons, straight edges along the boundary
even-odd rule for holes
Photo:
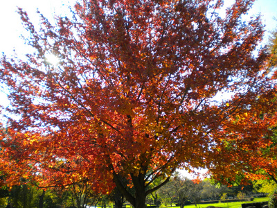
[[[154,185],[154,184],[153,184]],[[130,187],[132,189],[132,187]],[[257,186],[226,187],[213,183],[210,179],[196,183],[186,177],[175,176],[165,186],[147,198],[149,205],[178,205],[184,207],[192,203],[211,201],[245,200],[245,198],[264,196],[258,193]],[[87,182],[72,184],[62,189],[38,189],[27,184],[0,189],[0,208],[85,208],[113,207],[121,208],[125,203],[123,196],[114,189],[112,193],[96,193]]]

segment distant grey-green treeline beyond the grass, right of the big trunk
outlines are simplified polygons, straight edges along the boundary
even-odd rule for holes
[[[177,204],[180,207],[185,205],[201,204],[205,202],[225,202],[227,200],[251,200],[253,197],[266,196],[267,193],[258,193],[260,187],[255,184],[247,186],[227,187],[222,184],[215,184],[210,179],[202,182],[193,182],[186,177],[177,175],[157,193],[148,196],[148,203],[172,206]]]

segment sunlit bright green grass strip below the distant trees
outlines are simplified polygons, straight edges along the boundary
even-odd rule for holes
[[[186,205],[185,208],[206,208],[208,206],[214,206],[214,207],[222,207],[222,208],[240,208],[242,207],[242,204],[245,203],[253,203],[253,202],[266,202],[268,201],[269,198],[265,197],[265,198],[255,198],[252,202],[228,202],[228,203],[215,203],[215,204],[203,204],[203,205],[197,205],[197,207],[195,207],[195,205]],[[161,208],[170,208],[169,207],[163,207],[161,206]],[[172,207],[172,208],[179,208],[179,207]]]

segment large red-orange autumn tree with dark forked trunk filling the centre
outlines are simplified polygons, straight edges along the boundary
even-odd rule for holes
[[[40,15],[39,28],[19,9],[35,52],[1,58],[6,182],[86,180],[143,208],[176,168],[232,178],[258,167],[254,150],[270,142],[261,136],[276,102],[260,17],[242,21],[252,3],[236,0],[219,15],[220,0],[84,0],[55,24]],[[250,120],[247,110],[267,116]]]

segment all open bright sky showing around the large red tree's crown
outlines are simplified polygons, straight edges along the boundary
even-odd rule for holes
[[[227,4],[231,2],[233,0],[225,1]],[[15,49],[20,57],[29,52],[21,38],[21,34],[24,34],[25,31],[17,14],[17,7],[26,10],[30,20],[37,24],[39,19],[36,13],[37,9],[46,18],[53,21],[55,15],[66,15],[66,12],[69,12],[68,6],[73,6],[74,3],[74,0],[0,0],[0,53],[5,52],[6,55],[12,55],[12,51]],[[277,19],[277,0],[257,0],[249,11],[249,15],[257,15],[259,12],[262,15],[263,24],[266,25],[265,42],[267,42],[269,31],[277,28],[277,20],[274,20],[274,17]],[[0,92],[0,104],[5,105],[3,103],[8,103],[8,101],[6,95]],[[184,175],[191,177],[188,174]]]

